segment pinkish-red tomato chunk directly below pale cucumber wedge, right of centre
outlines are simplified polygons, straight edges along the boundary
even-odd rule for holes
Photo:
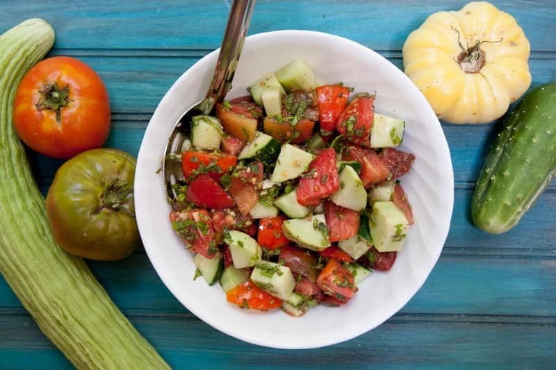
[[[359,212],[343,208],[327,201],[325,203],[326,226],[330,242],[338,242],[357,234],[359,230]]]

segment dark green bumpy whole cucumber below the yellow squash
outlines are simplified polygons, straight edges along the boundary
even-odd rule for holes
[[[555,174],[556,83],[526,94],[502,125],[471,201],[473,222],[492,234],[514,227]]]

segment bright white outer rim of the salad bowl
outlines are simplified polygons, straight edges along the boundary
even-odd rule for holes
[[[359,49],[361,49],[361,51],[365,51],[366,53],[372,53],[374,54],[375,57],[378,58],[382,58],[385,62],[388,62],[389,64],[393,65],[392,62],[390,62],[387,58],[385,58],[384,56],[381,56],[379,53],[377,53],[376,51],[374,51],[373,49],[370,49],[370,47],[366,47],[363,44],[359,44],[359,42],[355,42],[353,40],[347,39],[346,37],[342,37],[342,36],[338,36],[338,35],[333,35],[330,33],[325,33],[325,32],[321,32],[321,31],[311,31],[311,30],[302,30],[302,29],[284,29],[284,30],[277,30],[277,31],[268,31],[268,32],[263,32],[263,33],[256,33],[253,35],[249,35],[246,37],[245,42],[250,42],[251,40],[256,41],[259,40],[261,38],[265,38],[265,37],[274,37],[274,36],[295,36],[295,35],[315,35],[316,37],[327,37],[329,38],[330,42],[341,42],[344,44],[348,44],[351,45],[352,47],[357,47]],[[202,62],[204,62],[207,59],[211,59],[211,58],[215,58],[215,54],[217,54],[220,51],[220,48],[215,49],[214,51],[211,51],[211,53],[206,54],[206,56],[200,58],[199,60],[197,60],[197,62],[195,62],[191,67],[189,67],[185,72],[183,72],[183,74],[181,74],[179,76],[179,78],[177,78],[176,81],[174,81],[174,83],[172,83],[172,86],[170,87],[169,90],[167,90],[167,92],[164,94],[163,98],[161,99],[161,101],[158,103],[158,106],[156,107],[156,110],[154,110],[154,113],[151,117],[151,119],[149,120],[149,124],[147,125],[147,128],[145,130],[145,136],[147,135],[148,131],[149,131],[149,126],[152,126],[151,123],[152,121],[154,121],[154,119],[156,118],[156,116],[158,115],[158,111],[161,110],[161,106],[164,106],[165,103],[167,102],[168,99],[170,99],[170,96],[172,96],[172,93],[174,92],[174,89],[176,89],[176,87],[178,85],[181,85],[183,80],[186,80],[190,74],[194,74],[196,71],[195,69],[197,69],[196,67],[198,67],[199,65],[202,65]],[[412,88],[414,90],[416,90],[416,92],[418,92],[418,94],[421,96],[421,99],[424,103],[426,103],[426,107],[428,110],[430,110],[430,112],[432,112],[432,116],[435,117],[436,119],[436,123],[441,126],[440,121],[438,120],[438,118],[436,118],[436,115],[434,114],[434,111],[432,110],[432,107],[430,106],[430,104],[427,102],[427,100],[425,99],[425,96],[423,96],[423,94],[418,90],[418,87],[416,87],[416,85],[414,85],[414,83],[410,80],[410,78],[404,74],[404,72],[399,69],[398,67],[396,67],[395,65],[393,65],[393,67],[395,67],[396,69],[398,69],[398,72],[400,72],[400,78],[403,78],[406,83],[409,83],[409,85],[412,86]],[[211,73],[212,76],[212,73]],[[184,107],[184,109],[187,107]],[[180,113],[180,115],[183,112]],[[449,204],[447,204],[447,216],[445,219],[440,220],[438,222],[439,226],[441,227],[441,230],[443,230],[443,232],[440,235],[440,239],[439,239],[439,249],[437,249],[437,253],[434,253],[434,255],[431,255],[431,261],[432,261],[432,268],[427,271],[426,274],[424,274],[423,276],[421,276],[420,280],[418,281],[418,283],[416,284],[416,289],[414,292],[412,292],[412,294],[408,294],[408,296],[402,300],[400,300],[400,303],[398,305],[396,305],[396,308],[393,312],[393,314],[389,314],[389,315],[384,315],[384,319],[380,319],[378,320],[374,325],[372,326],[366,326],[366,325],[361,325],[359,327],[359,330],[355,330],[354,332],[350,333],[350,335],[338,338],[336,339],[331,339],[331,340],[321,340],[320,342],[315,342],[315,343],[309,343],[309,344],[303,344],[303,345],[290,345],[290,344],[276,344],[276,343],[269,343],[268,341],[264,341],[264,340],[259,340],[257,338],[253,338],[247,335],[243,335],[243,333],[241,333],[240,331],[233,331],[233,330],[227,330],[227,328],[222,328],[222,325],[220,325],[220,323],[218,322],[218,319],[213,319],[211,317],[211,315],[209,314],[205,314],[204,312],[200,312],[199,310],[195,310],[195,308],[190,308],[188,307],[188,305],[186,305],[186,303],[183,303],[183,301],[181,301],[181,299],[179,298],[179,294],[177,293],[177,288],[173,287],[172,284],[169,283],[170,281],[170,277],[169,274],[171,271],[164,269],[163,268],[163,264],[161,262],[161,260],[157,260],[157,258],[155,258],[155,253],[154,253],[154,249],[152,249],[152,246],[147,246],[147,244],[144,243],[144,247],[145,247],[145,252],[147,253],[147,257],[149,258],[149,261],[151,262],[151,264],[154,267],[154,270],[156,271],[156,274],[158,275],[159,278],[161,278],[161,280],[163,281],[165,287],[170,290],[170,292],[172,293],[172,295],[174,296],[174,298],[177,298],[177,300],[181,303],[181,305],[183,305],[188,311],[190,311],[192,314],[194,314],[198,319],[201,319],[202,321],[204,321],[205,323],[207,323],[209,326],[212,326],[213,328],[215,328],[216,330],[220,331],[221,333],[224,333],[226,335],[229,335],[231,337],[234,337],[236,339],[240,339],[244,342],[250,343],[250,344],[256,344],[259,346],[265,346],[265,347],[269,347],[269,348],[278,348],[278,349],[309,349],[309,348],[321,348],[324,346],[331,346],[334,344],[339,344],[342,342],[346,342],[347,340],[353,339],[355,337],[359,337],[360,335],[363,335],[364,333],[367,333],[370,330],[373,330],[374,328],[377,328],[378,326],[382,325],[382,323],[384,323],[385,321],[387,321],[388,319],[390,319],[391,317],[393,317],[396,313],[398,313],[403,307],[404,305],[407,305],[407,303],[411,300],[411,298],[413,298],[416,293],[421,289],[421,287],[423,287],[423,284],[425,283],[425,281],[427,280],[427,278],[430,276],[432,270],[434,269],[434,267],[436,266],[436,263],[438,262],[441,252],[443,250],[443,246],[445,244],[445,240],[448,237],[448,233],[450,230],[450,223],[451,223],[451,219],[452,219],[452,214],[453,214],[453,208],[454,208],[454,171],[453,171],[453,166],[452,166],[452,160],[451,160],[451,154],[450,154],[450,149],[448,146],[448,141],[446,140],[445,134],[443,132],[443,130],[441,130],[441,134],[443,137],[443,140],[441,140],[441,145],[443,146],[441,149],[448,155],[448,164],[450,166],[450,171],[447,174],[448,176],[448,181],[449,183],[451,183],[451,188],[448,189],[448,191],[450,192],[448,198],[446,199]],[[137,169],[136,169],[136,176],[135,176],[135,183],[140,183],[138,181],[138,179],[142,176],[142,168],[140,168],[140,163],[142,162],[142,157],[145,155],[144,151],[146,150],[145,147],[142,145],[143,141],[145,140],[145,136],[142,139],[141,142],[141,146],[140,146],[140,150],[138,152],[138,160],[137,160]],[[162,154],[162,149],[161,149],[161,154]],[[161,178],[161,181],[163,181],[162,176],[159,176],[159,178]],[[137,186],[137,185],[136,185]],[[135,202],[136,202],[136,217],[137,217],[137,221],[138,221],[138,229],[140,234],[142,234],[142,229],[144,229],[142,227],[142,211],[140,210],[140,205],[138,203],[140,203],[140,201],[138,200],[138,197],[135,198]],[[448,210],[449,208],[449,210]]]

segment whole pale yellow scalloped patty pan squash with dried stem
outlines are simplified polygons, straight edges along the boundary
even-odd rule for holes
[[[439,119],[452,124],[498,119],[531,85],[525,33],[487,2],[434,13],[407,37],[402,53],[404,72]]]

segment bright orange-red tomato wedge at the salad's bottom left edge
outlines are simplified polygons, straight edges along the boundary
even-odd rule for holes
[[[251,280],[230,289],[226,293],[226,300],[241,308],[254,308],[261,311],[279,308],[282,305],[280,298],[268,294]]]

